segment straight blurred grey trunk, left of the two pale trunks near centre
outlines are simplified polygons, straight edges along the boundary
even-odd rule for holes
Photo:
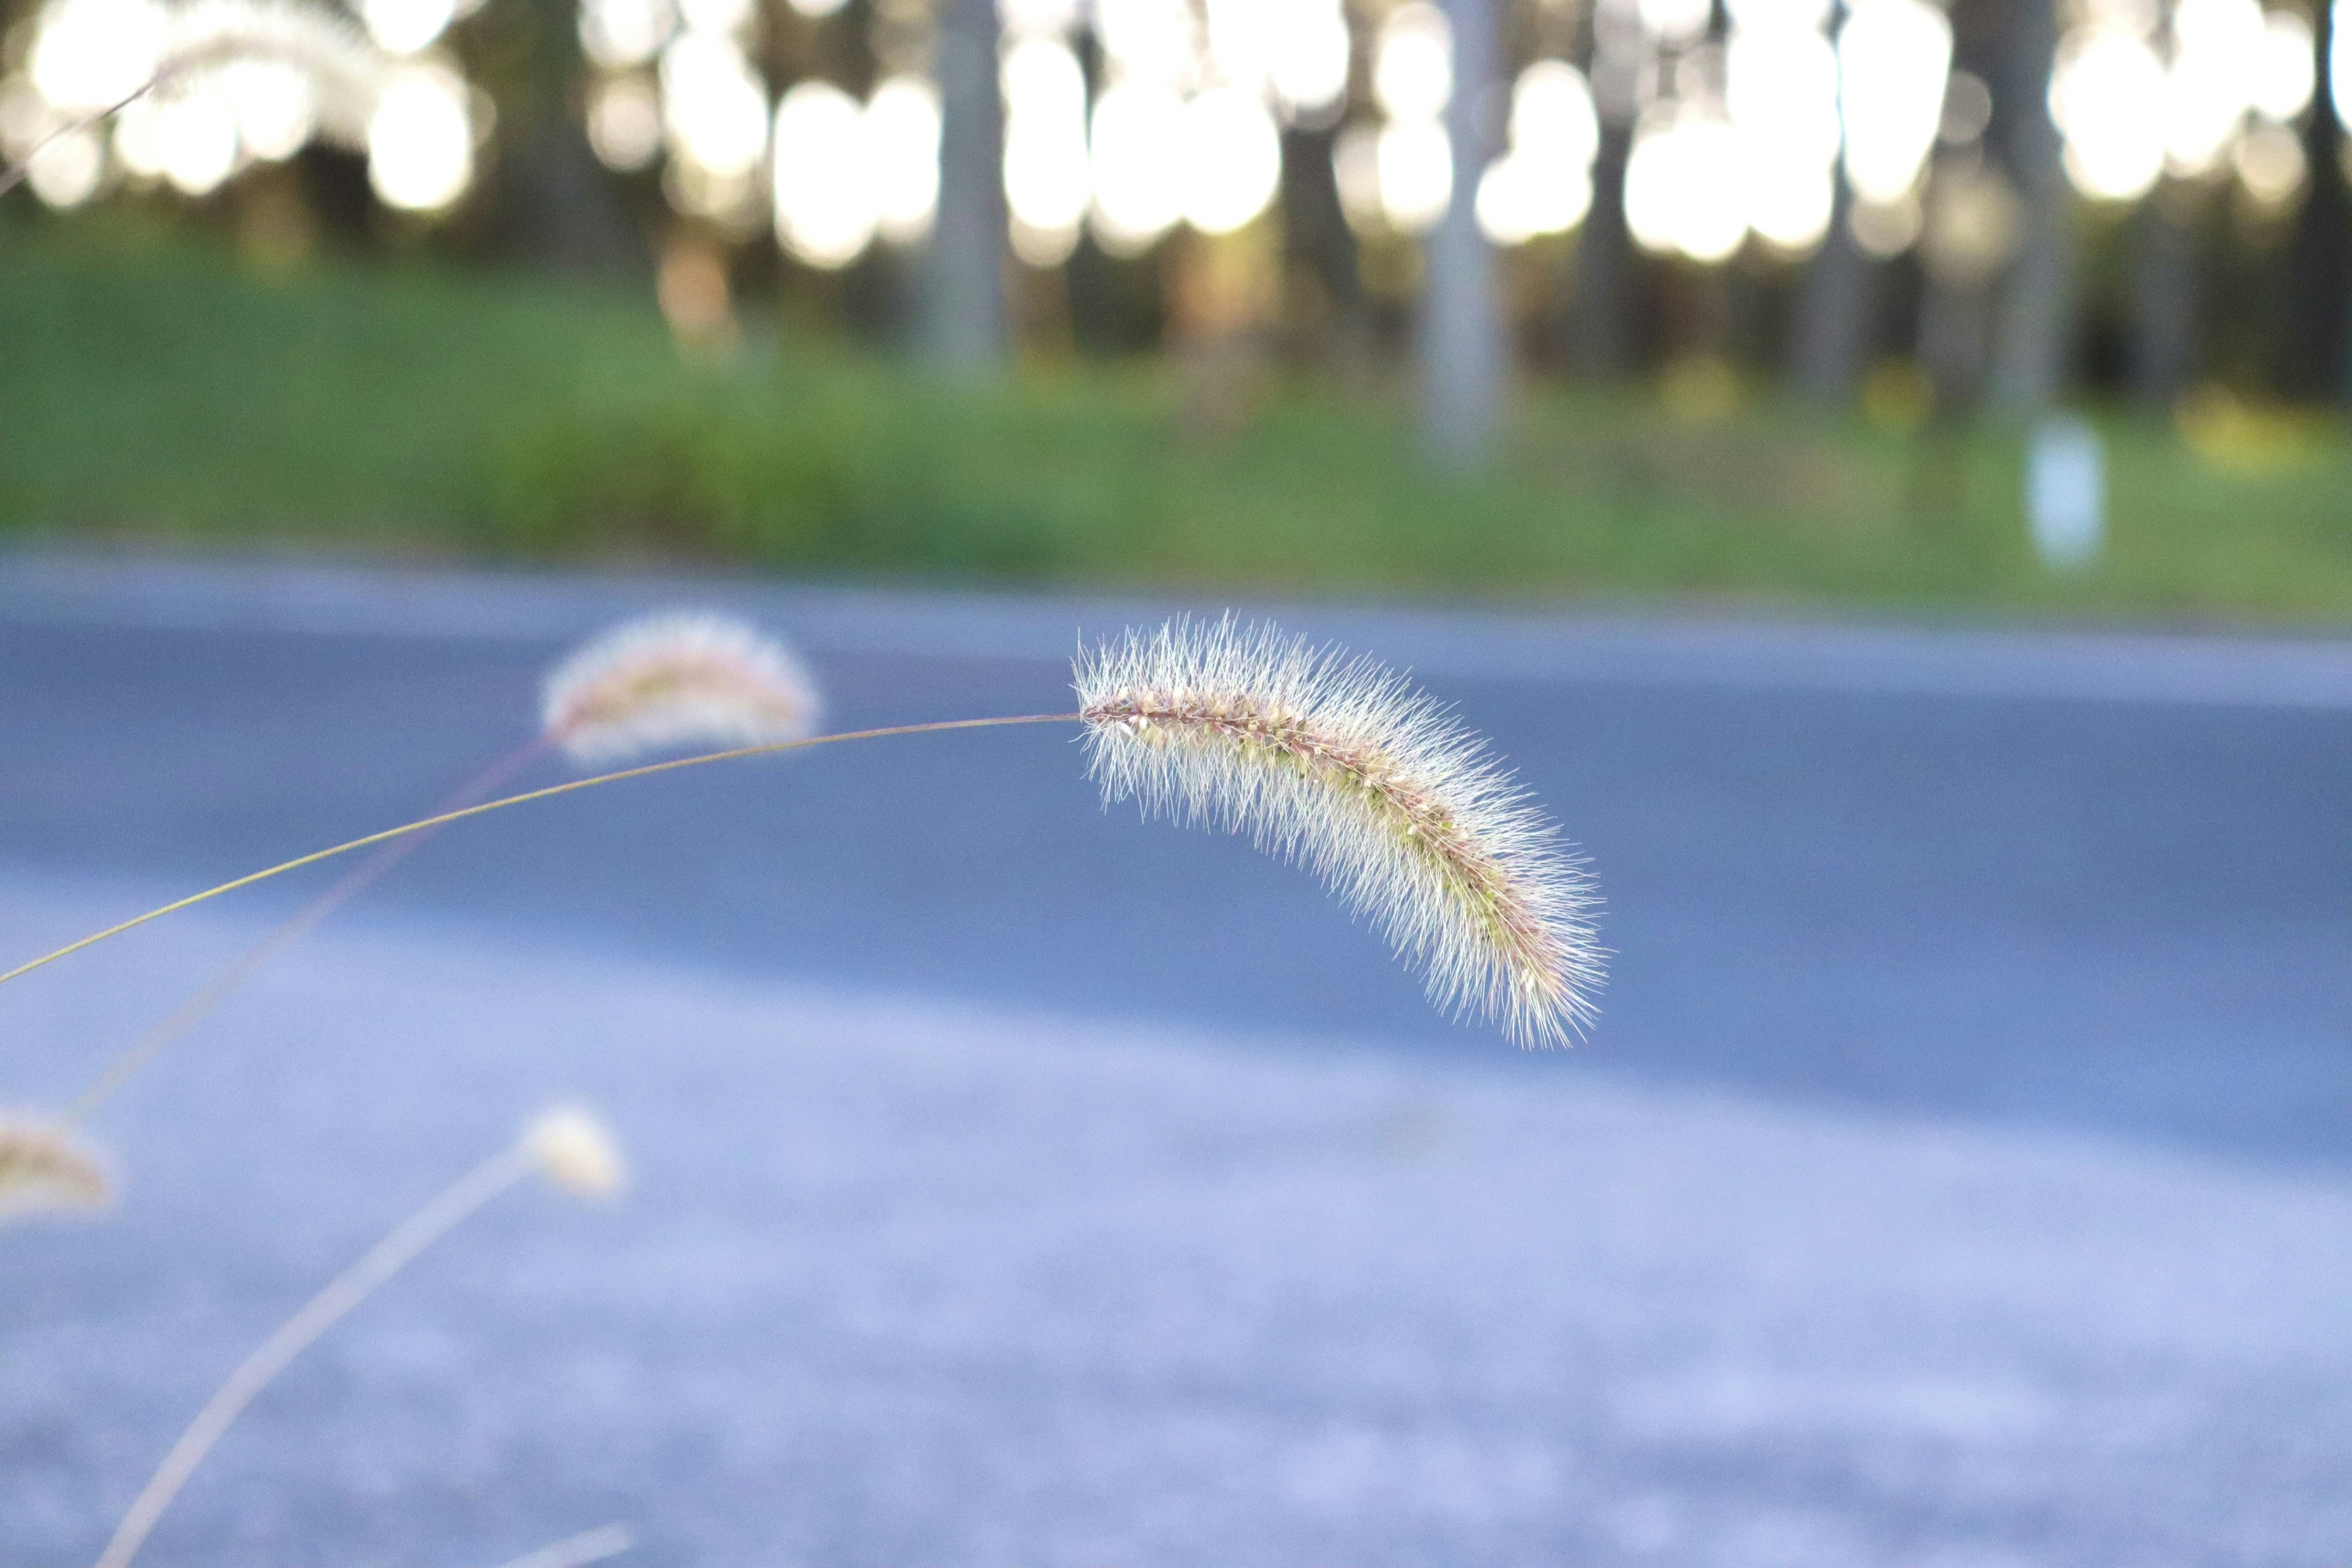
[[[938,219],[924,256],[922,355],[950,371],[1004,357],[1004,99],[995,0],[938,14]]]

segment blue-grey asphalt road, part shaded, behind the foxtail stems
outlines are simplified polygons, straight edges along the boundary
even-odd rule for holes
[[[630,609],[837,726],[1068,705],[1167,607],[0,564],[0,952],[416,816]],[[1282,611],[1411,665],[1592,858],[1573,1053],[1435,1018],[1303,875],[1056,729],[466,823],[0,1232],[0,1561],[534,1105],[503,1199],[273,1387],[143,1561],[2352,1561],[2352,649]],[[529,780],[555,780],[543,764]],[[332,870],[0,997],[68,1098]]]

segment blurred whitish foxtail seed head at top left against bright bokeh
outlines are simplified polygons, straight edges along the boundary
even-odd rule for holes
[[[348,150],[367,148],[367,122],[395,71],[393,56],[334,5],[183,0],[165,12],[158,96],[245,66],[289,68],[310,132]]]

